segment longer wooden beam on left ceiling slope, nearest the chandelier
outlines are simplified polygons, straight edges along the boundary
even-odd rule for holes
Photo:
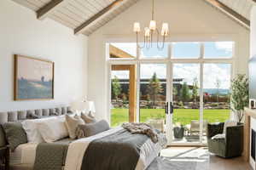
[[[96,20],[99,20],[103,14],[107,14],[109,11],[111,11],[113,8],[115,8],[119,3],[122,3],[124,0],[115,0],[113,3],[110,3],[108,7],[103,8],[100,12],[93,15],[89,20],[86,20],[83,24],[78,26],[74,29],[74,34],[82,33],[87,26],[89,26],[92,22],[95,22]]]

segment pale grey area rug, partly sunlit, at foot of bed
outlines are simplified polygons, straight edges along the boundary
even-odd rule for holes
[[[189,148],[172,150],[168,148],[161,152],[147,170],[196,170],[209,169],[209,154],[205,148]]]

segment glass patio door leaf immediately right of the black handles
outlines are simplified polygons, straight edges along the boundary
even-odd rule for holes
[[[171,73],[172,144],[200,143],[200,64],[173,63]]]

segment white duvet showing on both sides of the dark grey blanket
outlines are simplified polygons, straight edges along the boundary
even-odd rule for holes
[[[94,139],[100,139],[102,137],[108,136],[109,134],[116,133],[121,128],[123,127],[113,128],[106,132],[96,134],[95,136],[79,139],[71,143],[67,150],[65,170],[80,170],[85,150],[87,149],[90,142]],[[135,170],[146,169],[149,164],[154,161],[154,158],[158,156],[160,150],[161,145],[159,143],[154,144],[151,139],[148,139],[141,148],[140,158],[137,162],[137,167]]]

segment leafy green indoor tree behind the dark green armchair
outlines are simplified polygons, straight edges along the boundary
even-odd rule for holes
[[[237,121],[242,122],[244,108],[249,104],[249,82],[244,74],[238,74],[231,81],[231,110],[236,113]]]

